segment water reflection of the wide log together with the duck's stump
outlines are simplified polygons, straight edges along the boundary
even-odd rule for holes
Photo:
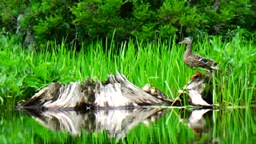
[[[166,115],[168,118],[172,114],[174,114],[174,117],[179,117],[179,121],[190,127],[198,138],[201,138],[202,134],[212,135],[213,110],[181,109],[180,113],[168,113],[168,110],[172,109],[138,108],[133,110],[90,110],[87,112],[74,110],[38,112],[25,110],[25,112],[30,114],[40,125],[50,130],[67,131],[69,134],[78,136],[82,130],[86,133],[102,133],[106,131],[108,137],[116,138],[117,142],[120,138],[125,138],[126,134],[139,124],[144,123],[148,126],[165,117],[165,114],[168,114]]]

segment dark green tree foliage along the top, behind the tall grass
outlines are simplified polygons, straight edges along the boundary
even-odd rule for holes
[[[256,28],[253,0],[2,0],[0,10],[2,33],[23,40],[30,34],[39,47],[63,40],[79,45],[106,38],[232,38],[238,26],[248,35]]]

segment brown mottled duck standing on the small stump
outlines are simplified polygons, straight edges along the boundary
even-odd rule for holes
[[[190,68],[203,67],[208,70],[218,69],[216,67],[216,62],[214,62],[213,60],[202,58],[200,55],[192,53],[192,40],[190,38],[185,38],[182,42],[179,42],[179,44],[187,45],[186,51],[183,54],[183,61]]]

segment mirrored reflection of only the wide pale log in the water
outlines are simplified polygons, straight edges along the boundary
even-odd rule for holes
[[[70,134],[80,135],[82,130],[87,133],[106,130],[109,137],[123,138],[129,130],[139,123],[155,122],[166,114],[162,109],[134,109],[134,110],[93,110],[86,113],[74,110],[58,111],[46,110],[36,112],[26,110],[42,126],[50,130],[66,130]]]

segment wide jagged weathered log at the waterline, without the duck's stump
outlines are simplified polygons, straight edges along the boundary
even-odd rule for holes
[[[110,74],[106,82],[92,81],[70,82],[63,86],[59,82],[51,83],[34,94],[32,98],[18,105],[18,108],[39,110],[87,110],[115,109],[137,106],[170,105],[174,101],[163,96],[149,94],[134,86],[127,78],[119,74]]]

